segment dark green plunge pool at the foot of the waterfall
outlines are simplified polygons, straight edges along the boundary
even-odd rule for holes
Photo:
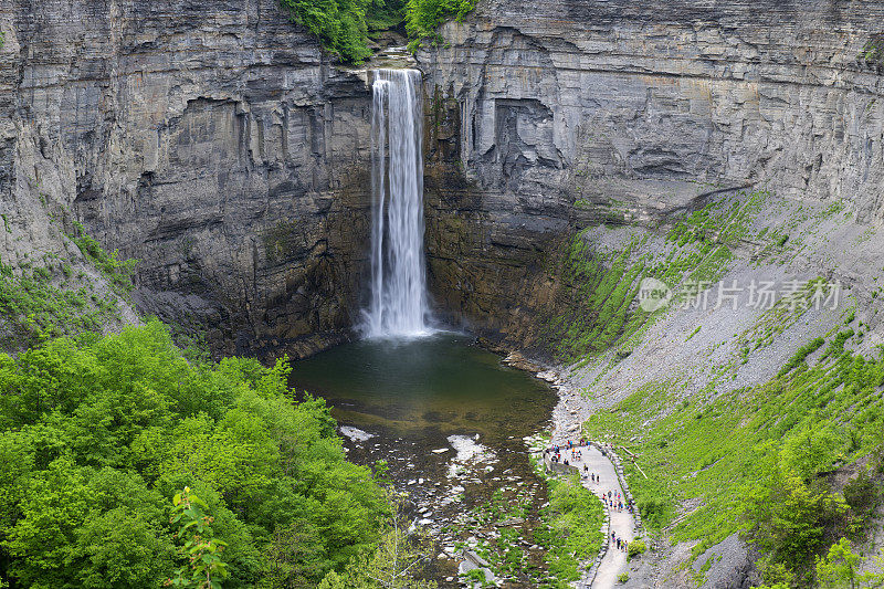
[[[339,422],[394,435],[478,433],[483,443],[535,433],[556,398],[463,335],[346,344],[295,364],[292,385],[325,397]]]

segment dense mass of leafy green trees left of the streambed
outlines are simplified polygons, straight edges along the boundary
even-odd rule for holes
[[[189,523],[167,515],[183,487],[212,516],[200,537],[228,545],[225,588],[254,586],[280,559],[263,587],[315,587],[372,550],[383,494],[345,460],[324,401],[292,401],[288,371],[188,361],[157,322],[0,355],[0,576],[160,587]]]

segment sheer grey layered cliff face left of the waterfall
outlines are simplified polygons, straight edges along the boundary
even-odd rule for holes
[[[42,246],[42,198],[141,260],[143,312],[219,349],[350,324],[370,95],[276,0],[12,4],[0,197],[23,238],[7,263]]]

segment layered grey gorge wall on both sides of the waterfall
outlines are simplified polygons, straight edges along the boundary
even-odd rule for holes
[[[435,304],[543,349],[568,296],[550,252],[585,225],[749,186],[878,223],[884,66],[857,57],[881,22],[871,1],[480,2],[418,55]],[[4,264],[78,220],[141,260],[143,313],[218,351],[352,324],[370,94],[275,0],[14,0],[0,30]]]

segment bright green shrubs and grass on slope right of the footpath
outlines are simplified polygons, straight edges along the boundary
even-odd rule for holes
[[[675,541],[697,541],[696,556],[743,528],[770,566],[808,575],[814,555],[833,536],[859,534],[877,502],[864,476],[842,496],[824,474],[882,448],[884,359],[843,351],[845,335],[814,366],[751,390],[682,402],[680,382],[649,383],[596,413],[585,435],[633,440],[649,478],[630,463],[624,470],[652,530],[672,524]],[[688,501],[699,506],[673,524]]]

